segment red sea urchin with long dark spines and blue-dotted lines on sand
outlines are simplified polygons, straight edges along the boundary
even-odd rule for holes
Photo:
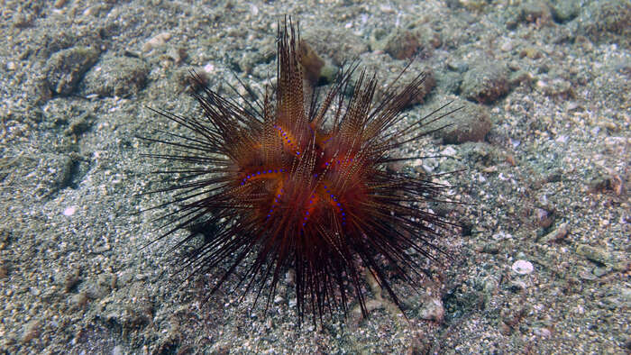
[[[384,265],[414,287],[424,269],[413,254],[434,259],[433,240],[452,224],[426,209],[443,198],[444,185],[387,165],[418,159],[393,154],[451,112],[436,110],[404,124],[401,112],[423,90],[425,74],[407,85],[391,83],[375,102],[377,78],[358,72],[356,63],[341,70],[323,97],[315,89],[306,100],[299,41],[291,22],[279,23],[277,83],[262,100],[241,96],[240,105],[192,73],[203,114],[151,109],[190,133],[139,137],[168,146],[168,153],[144,156],[177,166],[155,171],[177,178],[149,192],[174,195],[153,208],[177,210],[160,217],[166,232],[151,242],[188,231],[178,248],[203,233],[203,241],[178,260],[191,270],[189,278],[213,273],[217,280],[208,296],[238,278],[234,290],[244,287],[244,296],[253,289],[257,301],[266,296],[266,310],[283,273],[294,269],[299,321],[306,310],[314,323],[322,323],[327,311],[345,314],[353,294],[367,316],[365,270],[400,308]],[[403,128],[394,130],[397,123]]]

